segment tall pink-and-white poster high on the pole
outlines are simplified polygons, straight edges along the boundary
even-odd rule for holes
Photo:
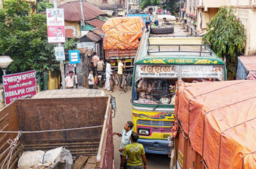
[[[47,8],[48,43],[65,43],[64,9]]]

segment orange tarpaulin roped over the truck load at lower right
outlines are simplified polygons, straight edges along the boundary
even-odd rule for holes
[[[256,168],[256,81],[178,85],[176,118],[208,168]]]

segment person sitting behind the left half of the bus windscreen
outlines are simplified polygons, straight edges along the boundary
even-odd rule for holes
[[[152,86],[148,84],[145,81],[145,78],[141,78],[139,81],[139,85],[137,86],[137,91],[139,91],[139,99],[149,99],[151,100],[151,91],[152,91]]]

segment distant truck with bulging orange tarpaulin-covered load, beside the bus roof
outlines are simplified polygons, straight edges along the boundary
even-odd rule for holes
[[[126,59],[126,67],[133,67],[144,28],[142,17],[112,17],[104,23],[105,59],[111,60],[111,67],[117,68],[122,57]]]

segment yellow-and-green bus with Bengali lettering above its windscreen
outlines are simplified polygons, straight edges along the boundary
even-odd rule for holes
[[[135,58],[133,131],[139,134],[138,143],[147,153],[170,152],[168,137],[174,124],[177,81],[191,84],[226,80],[225,63],[201,36],[188,35],[178,25],[172,28],[170,34],[143,32]]]

